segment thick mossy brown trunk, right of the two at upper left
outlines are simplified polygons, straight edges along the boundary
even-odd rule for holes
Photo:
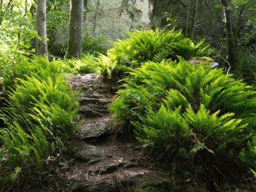
[[[68,47],[65,59],[80,58],[82,46],[83,0],[71,0]]]

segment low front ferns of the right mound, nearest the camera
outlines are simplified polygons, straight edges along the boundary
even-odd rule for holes
[[[140,116],[140,122],[132,124],[138,140],[154,147],[168,146],[171,152],[179,148],[193,151],[200,144],[200,149],[218,154],[227,151],[228,145],[237,146],[250,136],[246,124],[232,118],[234,114],[218,117],[219,112],[210,114],[201,104],[197,113],[190,105],[186,113],[181,113],[180,108],[173,111],[162,104],[158,111],[150,108],[146,117]]]

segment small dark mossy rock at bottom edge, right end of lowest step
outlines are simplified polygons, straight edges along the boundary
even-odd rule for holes
[[[166,191],[177,191],[175,186],[170,179],[160,179],[160,180],[147,180],[138,188],[135,189],[135,192],[166,192]]]

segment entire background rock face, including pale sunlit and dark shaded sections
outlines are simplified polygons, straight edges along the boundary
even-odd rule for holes
[[[190,2],[190,3],[189,3]],[[177,19],[176,24],[187,32],[189,38],[199,36],[207,42],[222,38],[223,22],[218,10],[214,10],[211,2],[218,0],[198,1],[195,15],[195,34],[189,32],[189,24],[193,18],[194,1],[179,0],[86,0],[84,1],[83,36],[116,41],[122,39],[128,31],[149,28],[164,28],[168,25],[165,15]],[[67,8],[68,12],[68,8]],[[217,15],[217,16],[216,16]],[[209,31],[211,31],[209,33]],[[66,29],[58,30],[54,45],[63,46],[67,39]],[[218,41],[212,42],[218,44]],[[107,42],[108,47],[110,43]],[[58,48],[57,47],[57,48]]]

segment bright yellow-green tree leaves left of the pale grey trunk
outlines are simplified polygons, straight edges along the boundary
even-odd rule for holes
[[[34,1],[3,1],[0,15],[0,65],[13,61],[17,54],[35,52],[31,40],[40,38],[35,30]],[[4,56],[4,57],[2,57]]]

